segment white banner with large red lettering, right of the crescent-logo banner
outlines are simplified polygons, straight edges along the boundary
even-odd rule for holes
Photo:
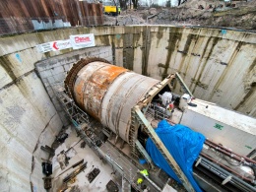
[[[73,49],[96,46],[95,34],[76,34],[70,35],[70,42]]]

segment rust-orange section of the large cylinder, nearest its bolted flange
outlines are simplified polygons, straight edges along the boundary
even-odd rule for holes
[[[88,64],[80,70],[74,85],[77,103],[100,120],[103,96],[113,81],[125,71],[124,68],[98,61]]]

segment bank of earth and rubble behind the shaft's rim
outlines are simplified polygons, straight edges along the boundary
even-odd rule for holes
[[[189,0],[174,8],[123,11],[120,16],[105,16],[105,25],[212,26],[256,30],[256,1]]]

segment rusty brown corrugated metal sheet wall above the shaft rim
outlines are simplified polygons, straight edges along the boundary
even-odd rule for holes
[[[0,34],[103,24],[102,5],[74,0],[2,0]]]

